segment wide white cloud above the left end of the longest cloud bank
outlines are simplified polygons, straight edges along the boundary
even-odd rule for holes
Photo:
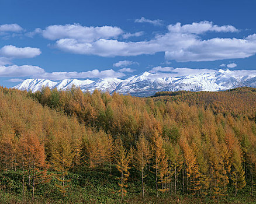
[[[115,38],[123,33],[119,27],[102,26],[102,27],[87,27],[80,24],[65,24],[52,25],[46,27],[42,31],[43,37],[50,40],[58,40],[61,38],[71,38],[90,43],[100,38]]]

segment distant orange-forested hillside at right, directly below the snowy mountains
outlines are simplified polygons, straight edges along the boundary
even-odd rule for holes
[[[197,107],[211,108],[215,114],[230,113],[255,118],[256,89],[251,87],[238,87],[223,92],[157,92],[151,97],[154,101],[185,102]]]

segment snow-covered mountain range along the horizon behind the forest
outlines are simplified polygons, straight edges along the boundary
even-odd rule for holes
[[[174,73],[150,73],[143,72],[130,78],[121,80],[106,78],[93,80],[64,79],[53,82],[47,79],[27,79],[13,87],[20,90],[32,90],[36,92],[43,86],[55,87],[58,90],[70,89],[72,86],[80,87],[83,92],[93,92],[95,89],[102,92],[118,92],[131,94],[132,96],[150,96],[160,91],[190,90],[197,91],[220,91],[233,89],[239,86],[256,87],[256,71],[210,71],[196,75],[177,76]]]

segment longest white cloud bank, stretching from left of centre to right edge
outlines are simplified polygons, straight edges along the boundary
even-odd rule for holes
[[[247,58],[256,53],[256,41],[250,38],[212,38],[201,40],[194,34],[167,33],[150,41],[122,42],[99,39],[82,43],[75,39],[60,39],[56,47],[77,54],[102,57],[137,56],[165,52],[165,59],[185,61],[215,61]]]

